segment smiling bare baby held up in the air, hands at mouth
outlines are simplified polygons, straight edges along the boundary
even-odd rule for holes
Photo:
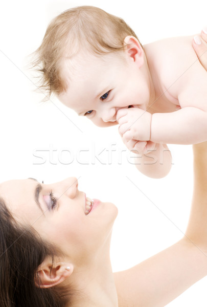
[[[207,140],[207,73],[192,39],[142,46],[121,18],[77,7],[52,20],[35,65],[49,95],[100,127],[119,124],[124,144],[139,154],[136,167],[162,178],[171,168],[167,143]]]

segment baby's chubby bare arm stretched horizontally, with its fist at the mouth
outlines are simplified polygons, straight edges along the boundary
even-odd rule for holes
[[[182,101],[187,95],[183,93],[180,96]],[[199,95],[197,96],[199,99]],[[207,86],[206,95],[200,98],[200,101],[203,100],[206,104],[203,109],[185,106],[183,103],[181,109],[172,113],[154,113],[151,115],[139,108],[120,109],[117,118],[123,141],[128,142],[132,139],[150,140],[154,143],[185,145],[207,140]]]

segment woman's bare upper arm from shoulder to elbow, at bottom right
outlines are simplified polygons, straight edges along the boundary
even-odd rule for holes
[[[129,306],[163,307],[207,275],[207,257],[188,238],[114,275],[119,300]]]

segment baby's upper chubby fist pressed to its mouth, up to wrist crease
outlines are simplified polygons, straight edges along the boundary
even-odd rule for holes
[[[117,112],[123,142],[149,141],[152,115],[140,108],[122,108]]]

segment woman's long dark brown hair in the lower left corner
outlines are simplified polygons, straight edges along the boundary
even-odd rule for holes
[[[56,249],[32,227],[15,221],[0,199],[0,305],[2,307],[63,307],[68,296],[63,288],[41,289],[35,285],[38,266],[45,257],[54,259]],[[68,302],[68,301],[67,301]]]

